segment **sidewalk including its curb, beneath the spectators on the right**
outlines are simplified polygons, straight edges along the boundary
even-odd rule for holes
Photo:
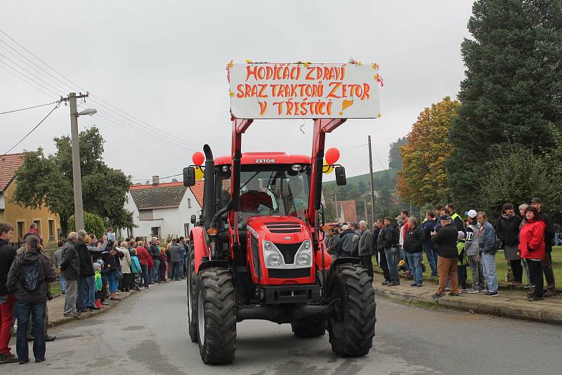
[[[436,307],[453,308],[471,313],[490,314],[513,319],[532,320],[550,324],[562,324],[562,296],[544,298],[542,301],[527,301],[527,291],[500,290],[499,296],[485,297],[483,293],[447,296],[434,299],[437,284],[424,282],[423,287],[410,287],[410,280],[400,279],[400,285],[381,285],[382,275],[375,273],[373,287],[378,296],[429,304]]]

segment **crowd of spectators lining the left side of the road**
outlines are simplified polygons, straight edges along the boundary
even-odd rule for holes
[[[11,245],[13,231],[10,223],[0,223],[0,364],[30,362],[28,341],[33,341],[35,362],[45,360],[46,342],[55,340],[47,333],[47,301],[57,276],[65,297],[63,315],[79,317],[119,301],[123,292],[187,275],[184,237],[160,246],[157,237],[119,242],[112,228],[100,239],[79,230],[58,243],[51,261],[37,225],[31,225],[18,250]],[[15,320],[17,357],[8,346]]]

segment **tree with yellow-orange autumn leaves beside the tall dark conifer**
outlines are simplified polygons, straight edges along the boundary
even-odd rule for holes
[[[424,109],[400,147],[402,171],[398,172],[398,195],[418,206],[449,202],[445,162],[450,155],[448,131],[459,102],[448,96]]]

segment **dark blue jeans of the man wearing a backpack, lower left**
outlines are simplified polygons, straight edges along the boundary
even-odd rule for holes
[[[15,351],[19,360],[30,357],[30,348],[27,345],[27,325],[33,319],[33,356],[36,360],[45,357],[45,303],[21,303],[15,301],[15,316],[18,318],[18,338],[15,341]]]

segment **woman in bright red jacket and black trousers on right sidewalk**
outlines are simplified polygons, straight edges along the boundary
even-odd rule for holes
[[[519,253],[527,263],[530,274],[529,284],[532,292],[527,295],[529,301],[540,301],[543,296],[542,261],[544,260],[544,221],[535,207],[525,209],[525,221],[519,231]]]

